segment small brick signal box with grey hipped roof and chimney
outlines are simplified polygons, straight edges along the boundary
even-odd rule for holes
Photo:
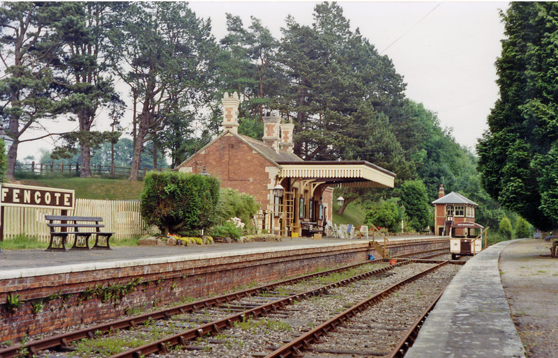
[[[445,194],[444,185],[440,185],[438,199],[432,201],[435,206],[434,232],[436,235],[449,235],[454,230],[455,235],[466,237],[467,230],[482,228],[475,224],[475,208],[477,203],[467,199],[459,193]]]

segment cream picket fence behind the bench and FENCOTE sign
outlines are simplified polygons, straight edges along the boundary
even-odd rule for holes
[[[4,240],[13,239],[17,235],[28,235],[38,238],[39,241],[48,242],[50,230],[45,215],[60,215],[60,211],[6,206]],[[137,200],[75,199],[75,210],[68,210],[68,215],[102,217],[105,224],[103,231],[114,232],[113,240],[133,238],[153,233],[154,230],[153,228],[147,230],[140,214],[140,201]]]

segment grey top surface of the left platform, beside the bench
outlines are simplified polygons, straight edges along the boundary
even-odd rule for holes
[[[370,236],[370,240],[372,237]],[[391,236],[390,242],[400,240],[423,240],[440,238],[439,236]],[[209,244],[190,246],[140,246],[113,247],[112,250],[66,250],[45,251],[43,249],[3,250],[0,251],[0,279],[38,276],[77,272],[82,270],[98,270],[130,265],[151,265],[156,263],[195,260],[241,254],[257,254],[262,252],[312,248],[324,246],[340,246],[368,242],[366,239],[309,238],[284,239],[272,242],[246,242],[231,244]]]

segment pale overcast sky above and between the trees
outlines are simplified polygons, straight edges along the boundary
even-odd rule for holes
[[[276,38],[292,15],[312,24],[317,2],[192,1],[198,17],[211,18],[217,40],[226,33],[226,13],[262,20]],[[407,97],[438,114],[442,127],[453,128],[458,143],[474,150],[488,127],[486,117],[498,98],[495,61],[502,51],[504,25],[499,11],[506,2],[368,2],[338,1],[352,29],[357,27],[378,51],[388,55],[405,78]],[[52,141],[23,143],[18,159],[50,149]]]

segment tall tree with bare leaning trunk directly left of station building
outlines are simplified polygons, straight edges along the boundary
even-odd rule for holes
[[[134,100],[129,180],[137,180],[144,143],[165,127],[165,114],[186,104],[202,107],[217,47],[209,22],[198,19],[187,3],[133,3],[123,16],[112,52]]]

